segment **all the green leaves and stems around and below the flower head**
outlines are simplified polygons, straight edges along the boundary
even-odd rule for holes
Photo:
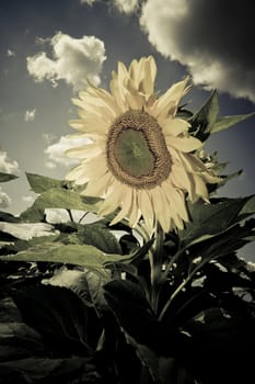
[[[216,92],[178,114],[201,140],[250,116],[219,118]],[[62,180],[26,177],[34,204],[0,213],[0,383],[250,382],[255,269],[240,250],[255,239],[255,196],[211,191],[210,204],[188,203],[183,230],[150,237],[142,222],[111,226],[98,200]],[[46,208],[70,221],[49,224]],[[46,233],[24,236],[38,223]]]

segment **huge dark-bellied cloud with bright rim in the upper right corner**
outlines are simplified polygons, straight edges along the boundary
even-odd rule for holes
[[[194,83],[255,101],[251,7],[231,0],[147,0],[140,25],[162,55],[187,67]]]

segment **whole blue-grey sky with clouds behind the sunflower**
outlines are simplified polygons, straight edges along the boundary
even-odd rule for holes
[[[1,0],[0,171],[19,179],[1,184],[0,208],[32,204],[25,172],[62,179],[74,166],[71,99],[85,78],[108,89],[119,60],[152,55],[159,92],[189,75],[193,111],[217,89],[221,115],[254,112],[253,14],[252,0]],[[227,172],[243,170],[220,195],[255,192],[254,142],[255,116],[210,137]]]

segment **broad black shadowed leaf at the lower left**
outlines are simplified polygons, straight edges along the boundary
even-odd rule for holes
[[[70,350],[84,353],[93,347],[88,308],[71,290],[37,285],[13,292],[12,298],[24,321],[39,332],[51,352],[63,357]]]

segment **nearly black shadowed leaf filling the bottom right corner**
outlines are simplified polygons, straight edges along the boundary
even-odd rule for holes
[[[184,351],[184,357],[199,382],[253,382],[254,318],[211,307],[185,329],[192,335],[193,348],[189,355]]]

